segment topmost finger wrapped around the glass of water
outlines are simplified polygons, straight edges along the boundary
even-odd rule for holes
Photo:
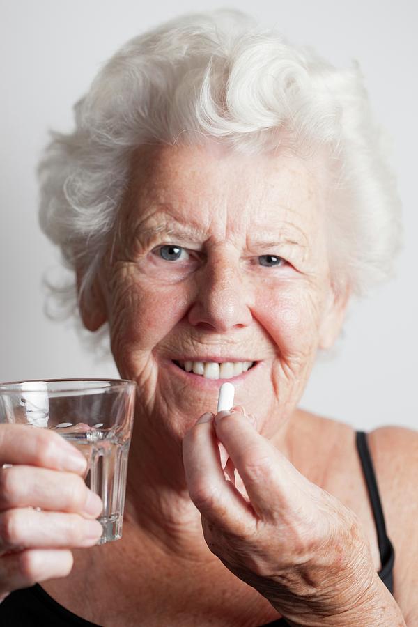
[[[23,424],[0,425],[0,466],[25,464],[84,474],[87,460],[61,435]]]

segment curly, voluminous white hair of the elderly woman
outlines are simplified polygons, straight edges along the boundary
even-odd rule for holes
[[[325,150],[332,172],[330,258],[336,289],[363,294],[392,274],[400,202],[387,137],[371,118],[357,61],[339,70],[236,10],[188,14],[128,41],[75,104],[75,131],[52,133],[40,162],[40,224],[88,298],[146,144],[201,143],[261,154]],[[77,311],[71,285],[50,286]]]

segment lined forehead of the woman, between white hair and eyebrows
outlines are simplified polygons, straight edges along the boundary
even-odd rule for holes
[[[162,146],[141,150],[131,170],[131,227],[149,222],[195,224],[201,229],[233,221],[268,229],[323,214],[322,163],[297,155],[241,155],[219,146]]]

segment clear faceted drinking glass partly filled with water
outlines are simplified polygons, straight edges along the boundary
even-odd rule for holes
[[[0,383],[0,423],[52,429],[86,457],[86,485],[103,501],[98,544],[122,537],[135,391],[118,379]]]

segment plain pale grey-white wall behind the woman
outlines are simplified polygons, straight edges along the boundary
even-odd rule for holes
[[[353,304],[334,357],[321,359],[301,405],[366,431],[416,428],[417,4],[410,0],[0,1],[0,380],[118,376],[73,324],[43,312],[41,280],[59,254],[40,232],[35,168],[47,130],[72,130],[72,104],[128,38],[181,13],[240,8],[334,65],[357,59],[376,119],[393,138],[403,201],[396,279]]]

